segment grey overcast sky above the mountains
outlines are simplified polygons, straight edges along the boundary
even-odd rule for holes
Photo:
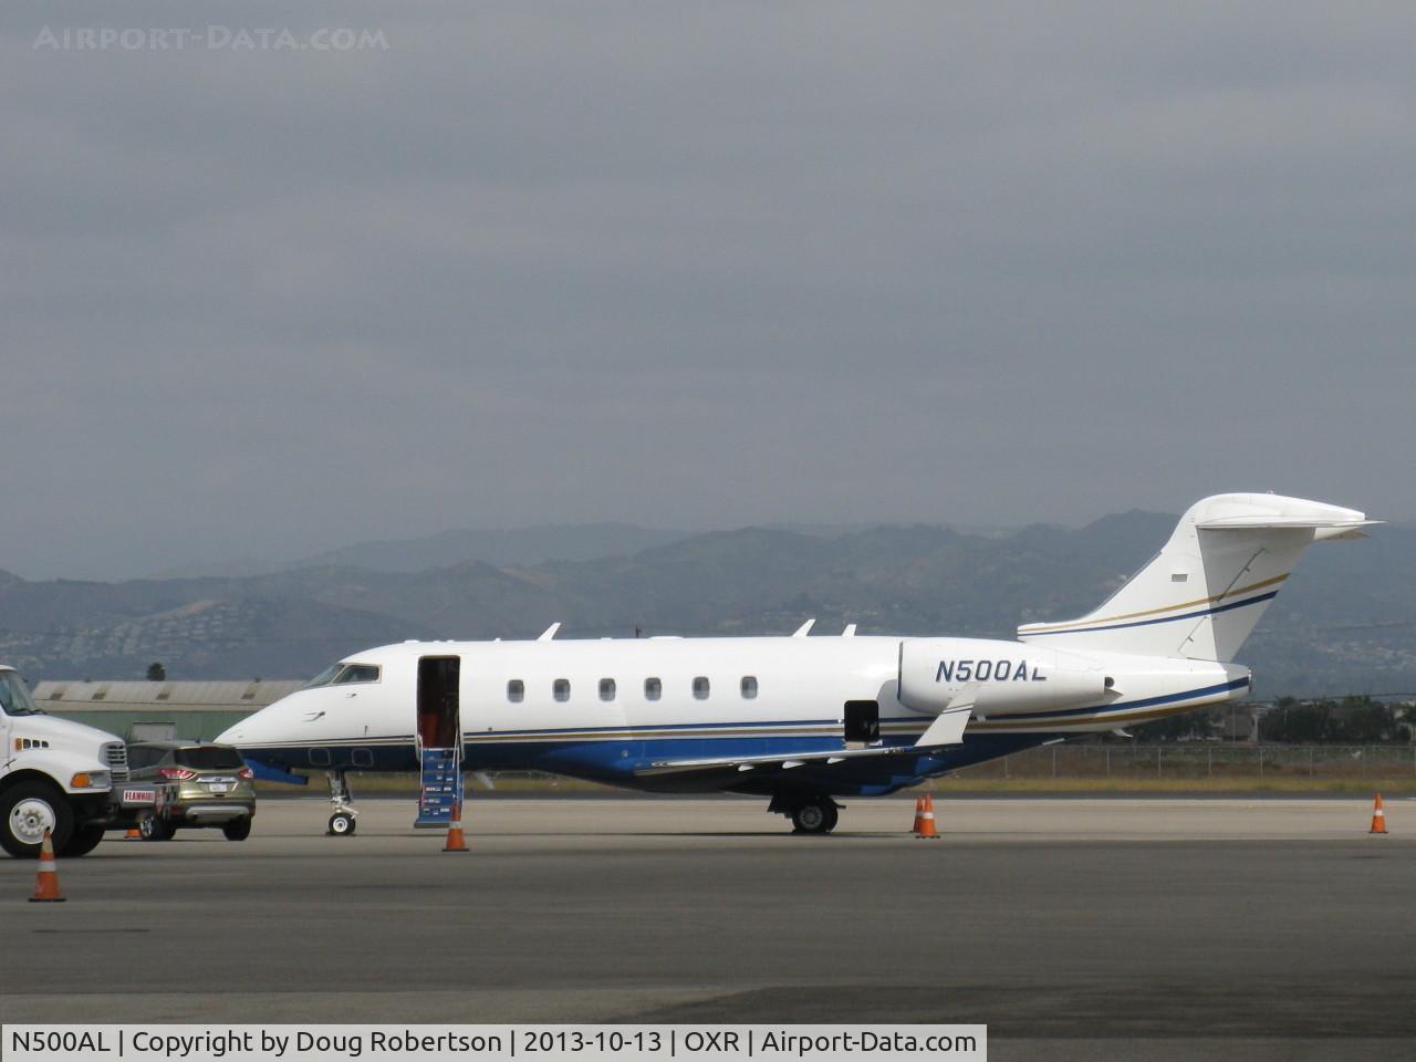
[[[0,568],[1416,517],[1409,3],[287,8],[0,14]]]

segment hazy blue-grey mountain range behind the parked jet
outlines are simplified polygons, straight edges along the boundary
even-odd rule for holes
[[[1090,610],[1174,523],[1131,511],[1079,530],[692,535],[596,524],[530,528],[520,542],[511,531],[371,542],[246,575],[0,572],[0,661],[31,681],[140,678],[152,661],[173,680],[297,678],[374,644],[535,637],[552,622],[562,637],[787,633],[809,617],[818,633],[1011,637],[1018,623]],[[1240,654],[1256,692],[1416,691],[1413,576],[1416,528],[1314,548]]]

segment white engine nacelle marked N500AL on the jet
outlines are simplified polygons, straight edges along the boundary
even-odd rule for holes
[[[1011,641],[912,639],[899,646],[899,700],[937,715],[971,687],[974,715],[1106,704],[1114,681],[1086,657]]]

